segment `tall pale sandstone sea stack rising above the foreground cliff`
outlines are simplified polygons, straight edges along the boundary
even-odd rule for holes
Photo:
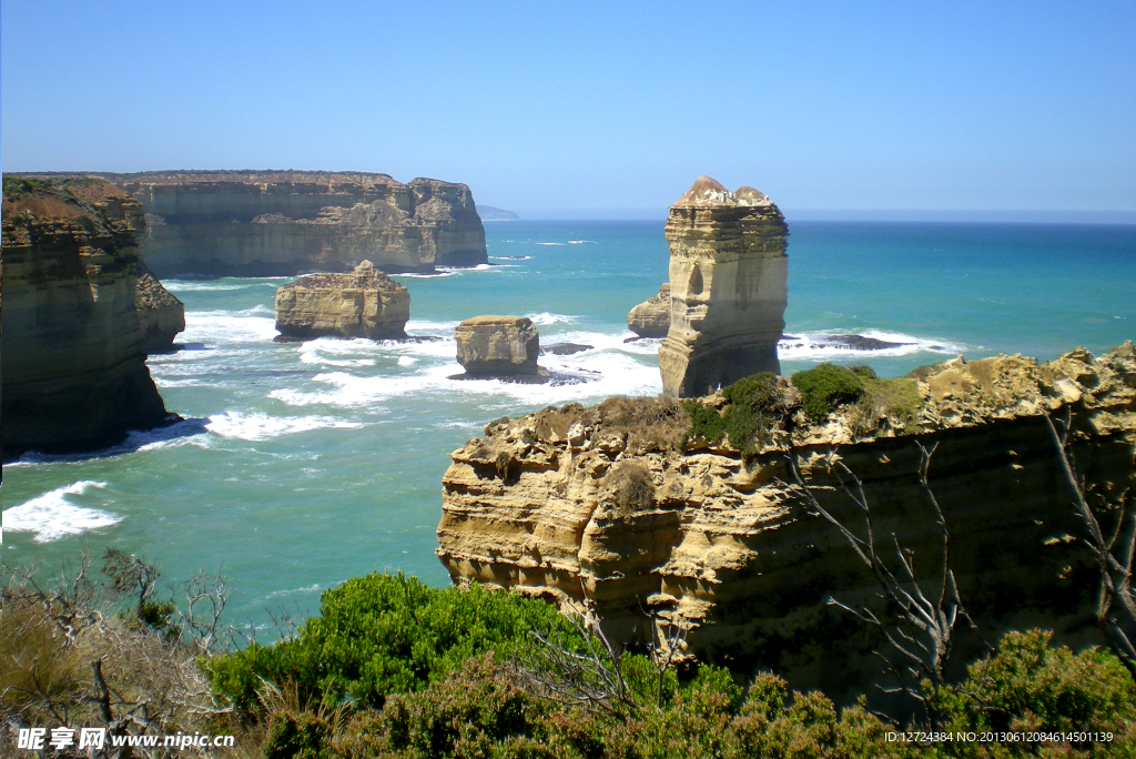
[[[690,398],[779,370],[788,265],[785,217],[753,187],[699,177],[670,207],[670,328],[659,349],[663,393]]]

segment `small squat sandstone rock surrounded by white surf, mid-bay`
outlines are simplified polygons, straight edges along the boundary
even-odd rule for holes
[[[517,316],[475,316],[458,325],[458,362],[473,376],[537,375],[541,337]]]

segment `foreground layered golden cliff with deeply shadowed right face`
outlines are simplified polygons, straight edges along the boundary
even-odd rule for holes
[[[612,399],[491,425],[451,454],[438,556],[458,582],[593,604],[619,640],[642,637],[652,610],[660,624],[687,628],[688,650],[703,660],[774,668],[795,687],[851,697],[878,682],[872,651],[884,643],[827,600],[878,604],[877,587],[786,484],[786,457],[863,535],[834,468],[844,464],[863,483],[877,540],[891,544],[894,534],[930,578],[942,547],[918,481],[919,441],[937,445],[929,483],[963,601],[986,639],[1041,625],[1066,642],[1100,642],[1099,576],[1042,415],[1071,412],[1076,462],[1100,503],[1136,489],[1133,343],[1099,359],[1083,350],[1041,366],[960,358],[907,380],[866,381],[869,392],[821,424],[809,423],[788,381],[762,382],[754,387],[776,390],[767,407],[776,412],[749,428],[732,425],[741,401],[720,393],[685,408]],[[725,436],[688,439],[691,414],[710,428],[721,408]],[[737,429],[757,432],[734,443]],[[1116,511],[1101,512],[1114,520]],[[961,634],[959,660],[977,644]]]

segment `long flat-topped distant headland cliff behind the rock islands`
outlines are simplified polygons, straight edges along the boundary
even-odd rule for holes
[[[463,184],[356,172],[100,176],[145,207],[143,250],[159,277],[349,272],[365,259],[384,272],[487,261]]]

